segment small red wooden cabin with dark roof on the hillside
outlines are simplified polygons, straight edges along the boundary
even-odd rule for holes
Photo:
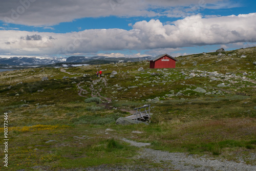
[[[148,61],[150,61],[150,68],[175,68],[177,59],[170,55],[163,54]]]

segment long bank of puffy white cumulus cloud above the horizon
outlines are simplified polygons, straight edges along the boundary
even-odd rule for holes
[[[256,42],[255,20],[256,13],[214,18],[194,15],[169,24],[155,19],[140,21],[132,30],[91,29],[65,34],[0,30],[0,51],[18,55],[69,55]]]

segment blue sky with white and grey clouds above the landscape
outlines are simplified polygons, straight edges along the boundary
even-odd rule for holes
[[[256,46],[256,2],[0,2],[0,57],[172,56]]]

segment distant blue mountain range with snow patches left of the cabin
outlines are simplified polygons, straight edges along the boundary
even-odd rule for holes
[[[62,64],[70,64],[70,63],[84,63],[88,65],[97,65],[111,62],[135,62],[141,60],[149,60],[152,56],[145,57],[136,57],[136,58],[125,58],[125,57],[106,57],[106,56],[70,56],[68,58],[37,58],[37,57],[10,57],[10,58],[2,58],[0,57],[0,67],[8,67],[8,66],[61,66]]]

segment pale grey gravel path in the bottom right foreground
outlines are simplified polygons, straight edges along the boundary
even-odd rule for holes
[[[137,147],[150,145],[150,143],[136,142],[125,138],[122,140]],[[185,153],[169,153],[150,148],[143,148],[143,151],[140,152],[140,156],[137,157],[148,158],[155,163],[167,162],[175,170],[256,170],[256,166],[247,165],[243,162],[219,161],[206,158],[205,156],[198,157],[196,155],[187,155]]]

